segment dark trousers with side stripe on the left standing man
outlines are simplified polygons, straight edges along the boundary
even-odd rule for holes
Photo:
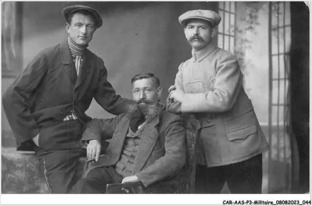
[[[79,120],[63,121],[40,128],[39,148],[35,148],[51,193],[69,193],[78,181],[77,165],[86,151],[79,146],[83,123]]]

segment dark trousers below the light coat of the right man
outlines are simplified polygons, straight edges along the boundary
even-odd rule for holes
[[[261,194],[262,154],[251,159],[219,167],[196,167],[197,194],[219,194],[227,182],[231,193]]]

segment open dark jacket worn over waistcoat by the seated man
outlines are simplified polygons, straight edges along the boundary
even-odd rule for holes
[[[103,141],[112,138],[105,155],[93,164],[93,168],[116,165],[129,130],[130,119],[128,114],[120,114],[112,119],[93,119],[87,123],[81,139],[82,146],[88,140]],[[148,187],[182,169],[186,154],[182,118],[162,111],[142,128],[132,175],[136,175]]]

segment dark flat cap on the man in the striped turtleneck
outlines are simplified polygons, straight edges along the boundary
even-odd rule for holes
[[[72,14],[73,12],[77,11],[77,10],[89,11],[92,14],[92,16],[94,17],[94,19],[96,20],[95,26],[97,28],[102,26],[103,20],[102,20],[101,16],[98,14],[98,11],[95,10],[94,8],[89,7],[89,6],[84,6],[84,5],[68,6],[62,10],[62,15],[65,17],[66,21],[68,21],[69,15]]]

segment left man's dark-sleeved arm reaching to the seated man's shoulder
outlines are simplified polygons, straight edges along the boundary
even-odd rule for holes
[[[116,95],[115,89],[107,81],[107,70],[102,59],[98,90],[94,98],[104,110],[115,115],[126,113],[127,105],[132,102],[132,100]]]

